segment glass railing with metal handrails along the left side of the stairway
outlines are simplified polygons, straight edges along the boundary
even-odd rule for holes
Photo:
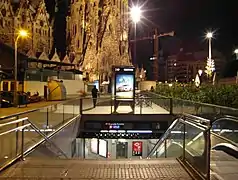
[[[43,142],[59,148],[50,137],[79,114],[79,98],[0,118],[0,170]],[[24,142],[24,143],[22,143]],[[22,145],[24,145],[22,149]],[[62,155],[63,153],[60,152]]]

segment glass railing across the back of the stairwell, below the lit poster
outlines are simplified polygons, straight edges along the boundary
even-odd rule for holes
[[[161,104],[164,104],[162,106]],[[98,97],[94,108],[93,98],[80,99],[81,114],[171,114],[171,100],[169,98],[151,98],[136,96],[135,98],[114,99],[111,96]]]

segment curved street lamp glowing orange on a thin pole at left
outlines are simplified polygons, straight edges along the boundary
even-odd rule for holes
[[[18,62],[17,62],[17,45],[18,45],[18,40],[20,38],[26,38],[28,37],[28,32],[26,30],[19,30],[18,33],[17,33],[17,37],[15,39],[15,63],[14,63],[14,80],[15,80],[15,88],[14,88],[14,105],[17,106],[17,65],[18,65]]]

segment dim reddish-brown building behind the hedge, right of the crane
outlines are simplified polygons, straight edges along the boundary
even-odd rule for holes
[[[225,57],[217,50],[212,51],[215,62],[215,72],[221,75]],[[167,59],[167,80],[169,82],[191,82],[195,79],[198,70],[205,74],[208,53],[206,51],[184,52],[183,49]]]

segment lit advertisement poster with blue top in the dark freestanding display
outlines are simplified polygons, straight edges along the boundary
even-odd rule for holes
[[[117,74],[116,75],[116,97],[133,98],[134,95],[134,75]]]

